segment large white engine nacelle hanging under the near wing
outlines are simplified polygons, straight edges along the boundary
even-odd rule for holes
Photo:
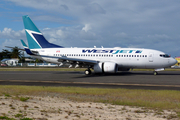
[[[97,63],[94,65],[95,73],[116,73],[118,66],[113,62]]]

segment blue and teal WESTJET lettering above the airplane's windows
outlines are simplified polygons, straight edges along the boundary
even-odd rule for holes
[[[117,53],[142,53],[142,50],[82,50],[82,53],[112,53],[112,54],[117,54]]]

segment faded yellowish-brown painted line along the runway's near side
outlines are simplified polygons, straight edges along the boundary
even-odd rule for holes
[[[84,85],[116,85],[116,86],[145,86],[145,87],[180,87],[180,85],[154,85],[154,84],[125,84],[125,83],[91,83],[91,82],[60,82],[60,81],[31,81],[31,80],[0,80],[0,82],[40,82],[40,83],[62,83],[62,84],[84,84]]]

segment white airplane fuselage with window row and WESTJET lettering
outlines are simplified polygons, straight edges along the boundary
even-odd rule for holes
[[[60,64],[59,59],[114,62],[120,68],[165,68],[177,61],[164,52],[139,48],[46,48],[38,51],[38,58]],[[33,56],[36,57],[36,56]]]

